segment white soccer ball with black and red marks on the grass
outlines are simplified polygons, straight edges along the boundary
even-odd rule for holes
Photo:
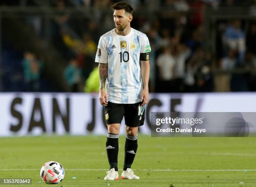
[[[59,184],[64,178],[64,168],[58,162],[46,162],[41,168],[40,176],[46,184]]]

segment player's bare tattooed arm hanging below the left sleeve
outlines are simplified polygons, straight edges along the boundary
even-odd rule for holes
[[[100,74],[100,104],[108,105],[108,95],[105,90],[106,80],[108,77],[108,64],[99,63],[99,74]]]

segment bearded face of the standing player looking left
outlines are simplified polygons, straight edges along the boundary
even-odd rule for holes
[[[114,22],[115,22],[115,27],[117,30],[123,31],[131,22],[132,20],[132,15],[130,13],[125,12],[124,9],[122,10],[115,10],[114,14]]]

